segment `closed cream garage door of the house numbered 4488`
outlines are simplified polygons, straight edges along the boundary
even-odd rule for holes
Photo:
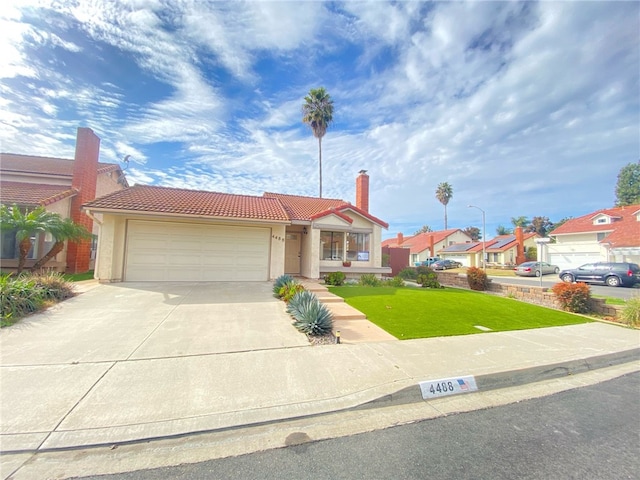
[[[271,230],[130,220],[127,281],[264,281]]]

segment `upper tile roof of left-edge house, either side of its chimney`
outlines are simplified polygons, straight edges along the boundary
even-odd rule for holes
[[[0,153],[0,170],[12,173],[31,173],[71,178],[73,176],[73,162],[73,159],[68,158]],[[120,170],[120,165],[116,163],[98,163],[98,173],[117,170]]]

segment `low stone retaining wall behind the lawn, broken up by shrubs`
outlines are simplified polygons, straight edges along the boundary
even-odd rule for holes
[[[466,275],[447,271],[439,271],[436,273],[441,285],[466,289],[469,288]],[[534,303],[543,307],[560,310],[560,304],[556,300],[556,296],[553,294],[551,289],[547,287],[541,288],[525,285],[503,285],[493,283],[491,279],[489,279],[489,288],[487,291],[503,297],[515,298],[523,302]],[[592,298],[591,310],[600,315],[616,318],[619,308],[613,305],[606,305],[603,298]]]

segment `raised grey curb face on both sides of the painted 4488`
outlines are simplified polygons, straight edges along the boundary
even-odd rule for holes
[[[624,350],[621,352],[608,353],[595,357],[569,360],[566,362],[554,363],[550,365],[540,365],[537,367],[510,370],[506,372],[490,373],[475,377],[478,392],[498,390],[501,388],[517,387],[530,383],[563,378],[571,375],[597,370],[599,368],[611,367],[623,363],[640,361],[640,348]],[[436,379],[432,379],[436,380]],[[473,393],[473,392],[469,392]],[[422,398],[422,392],[418,384],[405,387],[395,393],[383,395],[380,398],[371,400],[353,407],[352,410],[388,407],[393,405],[405,405],[427,401]]]

